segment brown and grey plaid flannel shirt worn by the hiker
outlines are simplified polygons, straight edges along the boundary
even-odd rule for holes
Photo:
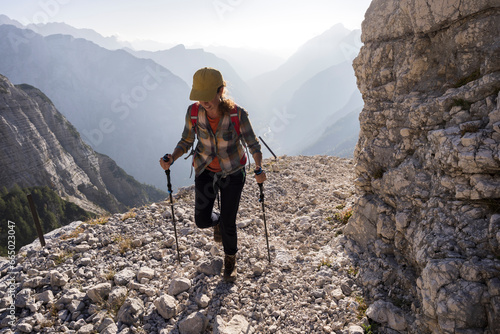
[[[228,114],[221,116],[217,131],[214,134],[208,123],[206,110],[201,104],[198,110],[195,131],[191,122],[191,108],[192,105],[187,110],[182,138],[176,148],[181,149],[184,154],[187,153],[193,146],[195,135],[198,135],[198,144],[194,150],[193,157],[196,176],[203,172],[214,157],[219,158],[223,177],[244,168],[247,156],[241,144],[241,139],[245,141],[250,154],[253,155],[254,153],[261,152],[260,143],[253,132],[252,124],[248,119],[248,113],[245,109],[237,106],[240,120],[240,134],[238,135]]]

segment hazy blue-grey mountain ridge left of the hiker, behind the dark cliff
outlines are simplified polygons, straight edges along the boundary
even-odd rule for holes
[[[158,160],[177,143],[189,104],[182,79],[124,50],[11,25],[0,26],[0,59],[0,73],[42,90],[92,148],[164,187]]]

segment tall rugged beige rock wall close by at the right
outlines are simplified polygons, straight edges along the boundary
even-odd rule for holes
[[[500,330],[498,22],[494,0],[374,0],[366,13],[345,232],[377,258],[360,275],[371,297],[405,312],[386,327]]]

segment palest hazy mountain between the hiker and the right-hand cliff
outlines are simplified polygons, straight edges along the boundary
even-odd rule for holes
[[[250,82],[262,97],[261,109],[266,111],[261,115],[265,138],[278,151],[291,155],[353,155],[356,142],[352,141],[350,148],[341,151],[332,149],[344,146],[338,141],[327,143],[328,150],[313,147],[321,136],[343,142],[343,137],[328,135],[327,131],[338,128],[333,125],[344,117],[354,118],[354,122],[344,120],[344,126],[350,125],[345,130],[355,136],[359,133],[359,126],[354,126],[358,115],[352,113],[359,113],[364,104],[352,68],[361,45],[359,38],[359,30],[335,25],[304,44],[278,69]],[[322,142],[317,145],[325,147]]]

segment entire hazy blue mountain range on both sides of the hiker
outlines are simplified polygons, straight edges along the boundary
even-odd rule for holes
[[[277,154],[318,152],[317,140],[330,138],[330,148],[344,146],[352,156],[355,143],[327,131],[343,120],[359,132],[357,114],[363,101],[357,93],[351,61],[361,45],[359,31],[335,25],[304,44],[286,62],[230,48],[218,54],[182,45],[162,51],[136,51],[116,37],[103,37],[66,24],[32,26],[0,15],[0,73],[16,84],[40,88],[96,151],[114,159],[140,182],[164,188],[158,159],[180,138],[194,71],[203,66],[221,69],[235,101],[245,107],[258,135]],[[46,36],[43,36],[46,35]],[[252,72],[255,58],[255,71]],[[271,59],[271,58],[268,58]],[[241,70],[247,63],[247,71]],[[255,74],[255,75],[253,75]],[[242,77],[248,79],[243,80]],[[352,117],[346,122],[343,118]],[[345,139],[345,140],[344,140]],[[337,142],[342,140],[342,142]],[[344,144],[342,144],[344,143]],[[324,147],[322,142],[318,147]],[[326,151],[319,151],[325,154]],[[267,153],[266,153],[267,154]],[[177,185],[188,185],[190,161],[174,167]]]

